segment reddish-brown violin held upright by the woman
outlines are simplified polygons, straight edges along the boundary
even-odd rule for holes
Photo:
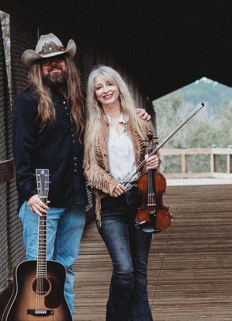
[[[148,155],[153,150],[153,134],[147,134]],[[156,137],[157,138],[157,137]],[[154,169],[149,169],[138,178],[139,193],[142,195],[142,206],[136,216],[137,228],[144,232],[159,233],[168,229],[172,222],[172,214],[169,208],[163,204],[163,194],[166,193],[166,179],[164,175]]]

